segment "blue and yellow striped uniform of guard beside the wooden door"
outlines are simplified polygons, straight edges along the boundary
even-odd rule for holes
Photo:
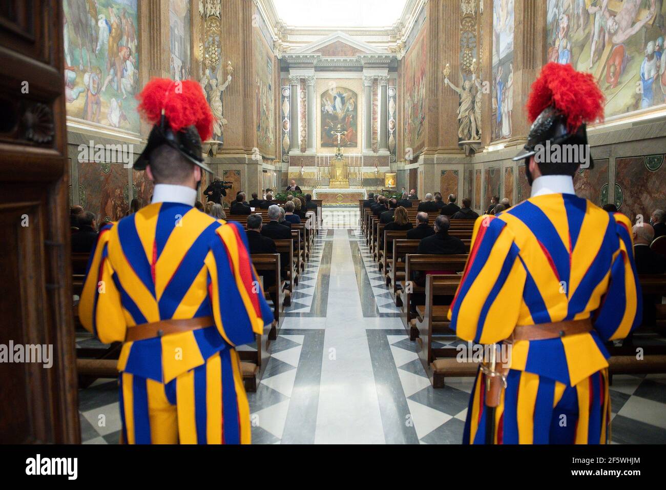
[[[104,343],[128,326],[210,316],[214,325],[123,345],[123,441],[250,443],[234,347],[272,323],[238,223],[180,203],[154,203],[105,225],[79,303]]]

